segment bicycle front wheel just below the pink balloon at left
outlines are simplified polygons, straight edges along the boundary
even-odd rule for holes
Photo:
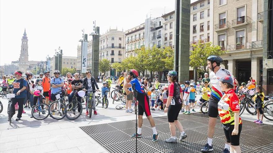
[[[44,120],[48,117],[48,105],[47,104],[36,104],[32,107],[31,115],[36,120]]]

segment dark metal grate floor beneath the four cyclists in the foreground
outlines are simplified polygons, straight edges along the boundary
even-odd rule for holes
[[[208,116],[199,113],[191,115],[179,114],[188,137],[176,144],[164,142],[170,138],[168,119],[166,116],[154,117],[156,130],[159,133],[157,142],[152,142],[152,129],[148,119],[143,119],[142,138],[137,139],[138,153],[195,153],[200,152],[207,142]],[[136,141],[130,136],[135,133],[135,120],[80,127],[86,134],[110,153],[134,153]],[[177,129],[177,138],[180,132]],[[218,119],[213,138],[214,153],[221,153],[224,148],[225,136]],[[257,125],[243,120],[240,136],[242,152],[272,152],[273,126]]]

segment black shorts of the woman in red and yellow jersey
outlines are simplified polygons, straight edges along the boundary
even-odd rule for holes
[[[240,145],[239,139],[240,139],[240,133],[242,130],[242,124],[239,124],[239,129],[238,129],[239,131],[238,131],[237,135],[231,135],[231,133],[234,129],[234,125],[229,125],[229,126],[230,126],[230,129],[228,131],[224,129],[225,136],[226,136],[226,142],[230,143],[230,145],[232,145],[232,146],[239,146]]]

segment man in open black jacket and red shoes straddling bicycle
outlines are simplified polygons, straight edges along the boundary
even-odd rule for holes
[[[93,109],[94,109],[94,115],[97,115],[97,111],[96,111],[96,102],[95,102],[95,92],[96,91],[100,91],[99,90],[99,86],[97,85],[96,83],[96,80],[95,78],[91,75],[91,72],[90,71],[86,71],[86,77],[83,79],[83,91],[85,91],[87,93],[87,96],[86,96],[86,113],[85,115],[88,115],[88,102],[89,102],[89,97],[90,97],[90,94],[89,93],[93,93],[92,94],[92,106],[93,106]],[[96,90],[96,88],[97,90]]]

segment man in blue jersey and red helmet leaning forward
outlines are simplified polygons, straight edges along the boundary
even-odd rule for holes
[[[124,72],[124,77],[126,78],[126,81],[124,81],[124,87],[129,88],[132,87],[134,90],[137,91],[137,101],[138,101],[138,130],[136,134],[132,134],[132,138],[141,138],[141,127],[143,123],[143,113],[145,113],[146,117],[148,118],[152,130],[153,130],[153,141],[157,141],[158,139],[158,133],[155,129],[154,119],[150,112],[150,104],[149,104],[149,98],[147,94],[145,93],[140,81],[138,81],[138,72],[137,70],[130,70],[127,78],[127,73]],[[128,83],[129,82],[129,83]]]

